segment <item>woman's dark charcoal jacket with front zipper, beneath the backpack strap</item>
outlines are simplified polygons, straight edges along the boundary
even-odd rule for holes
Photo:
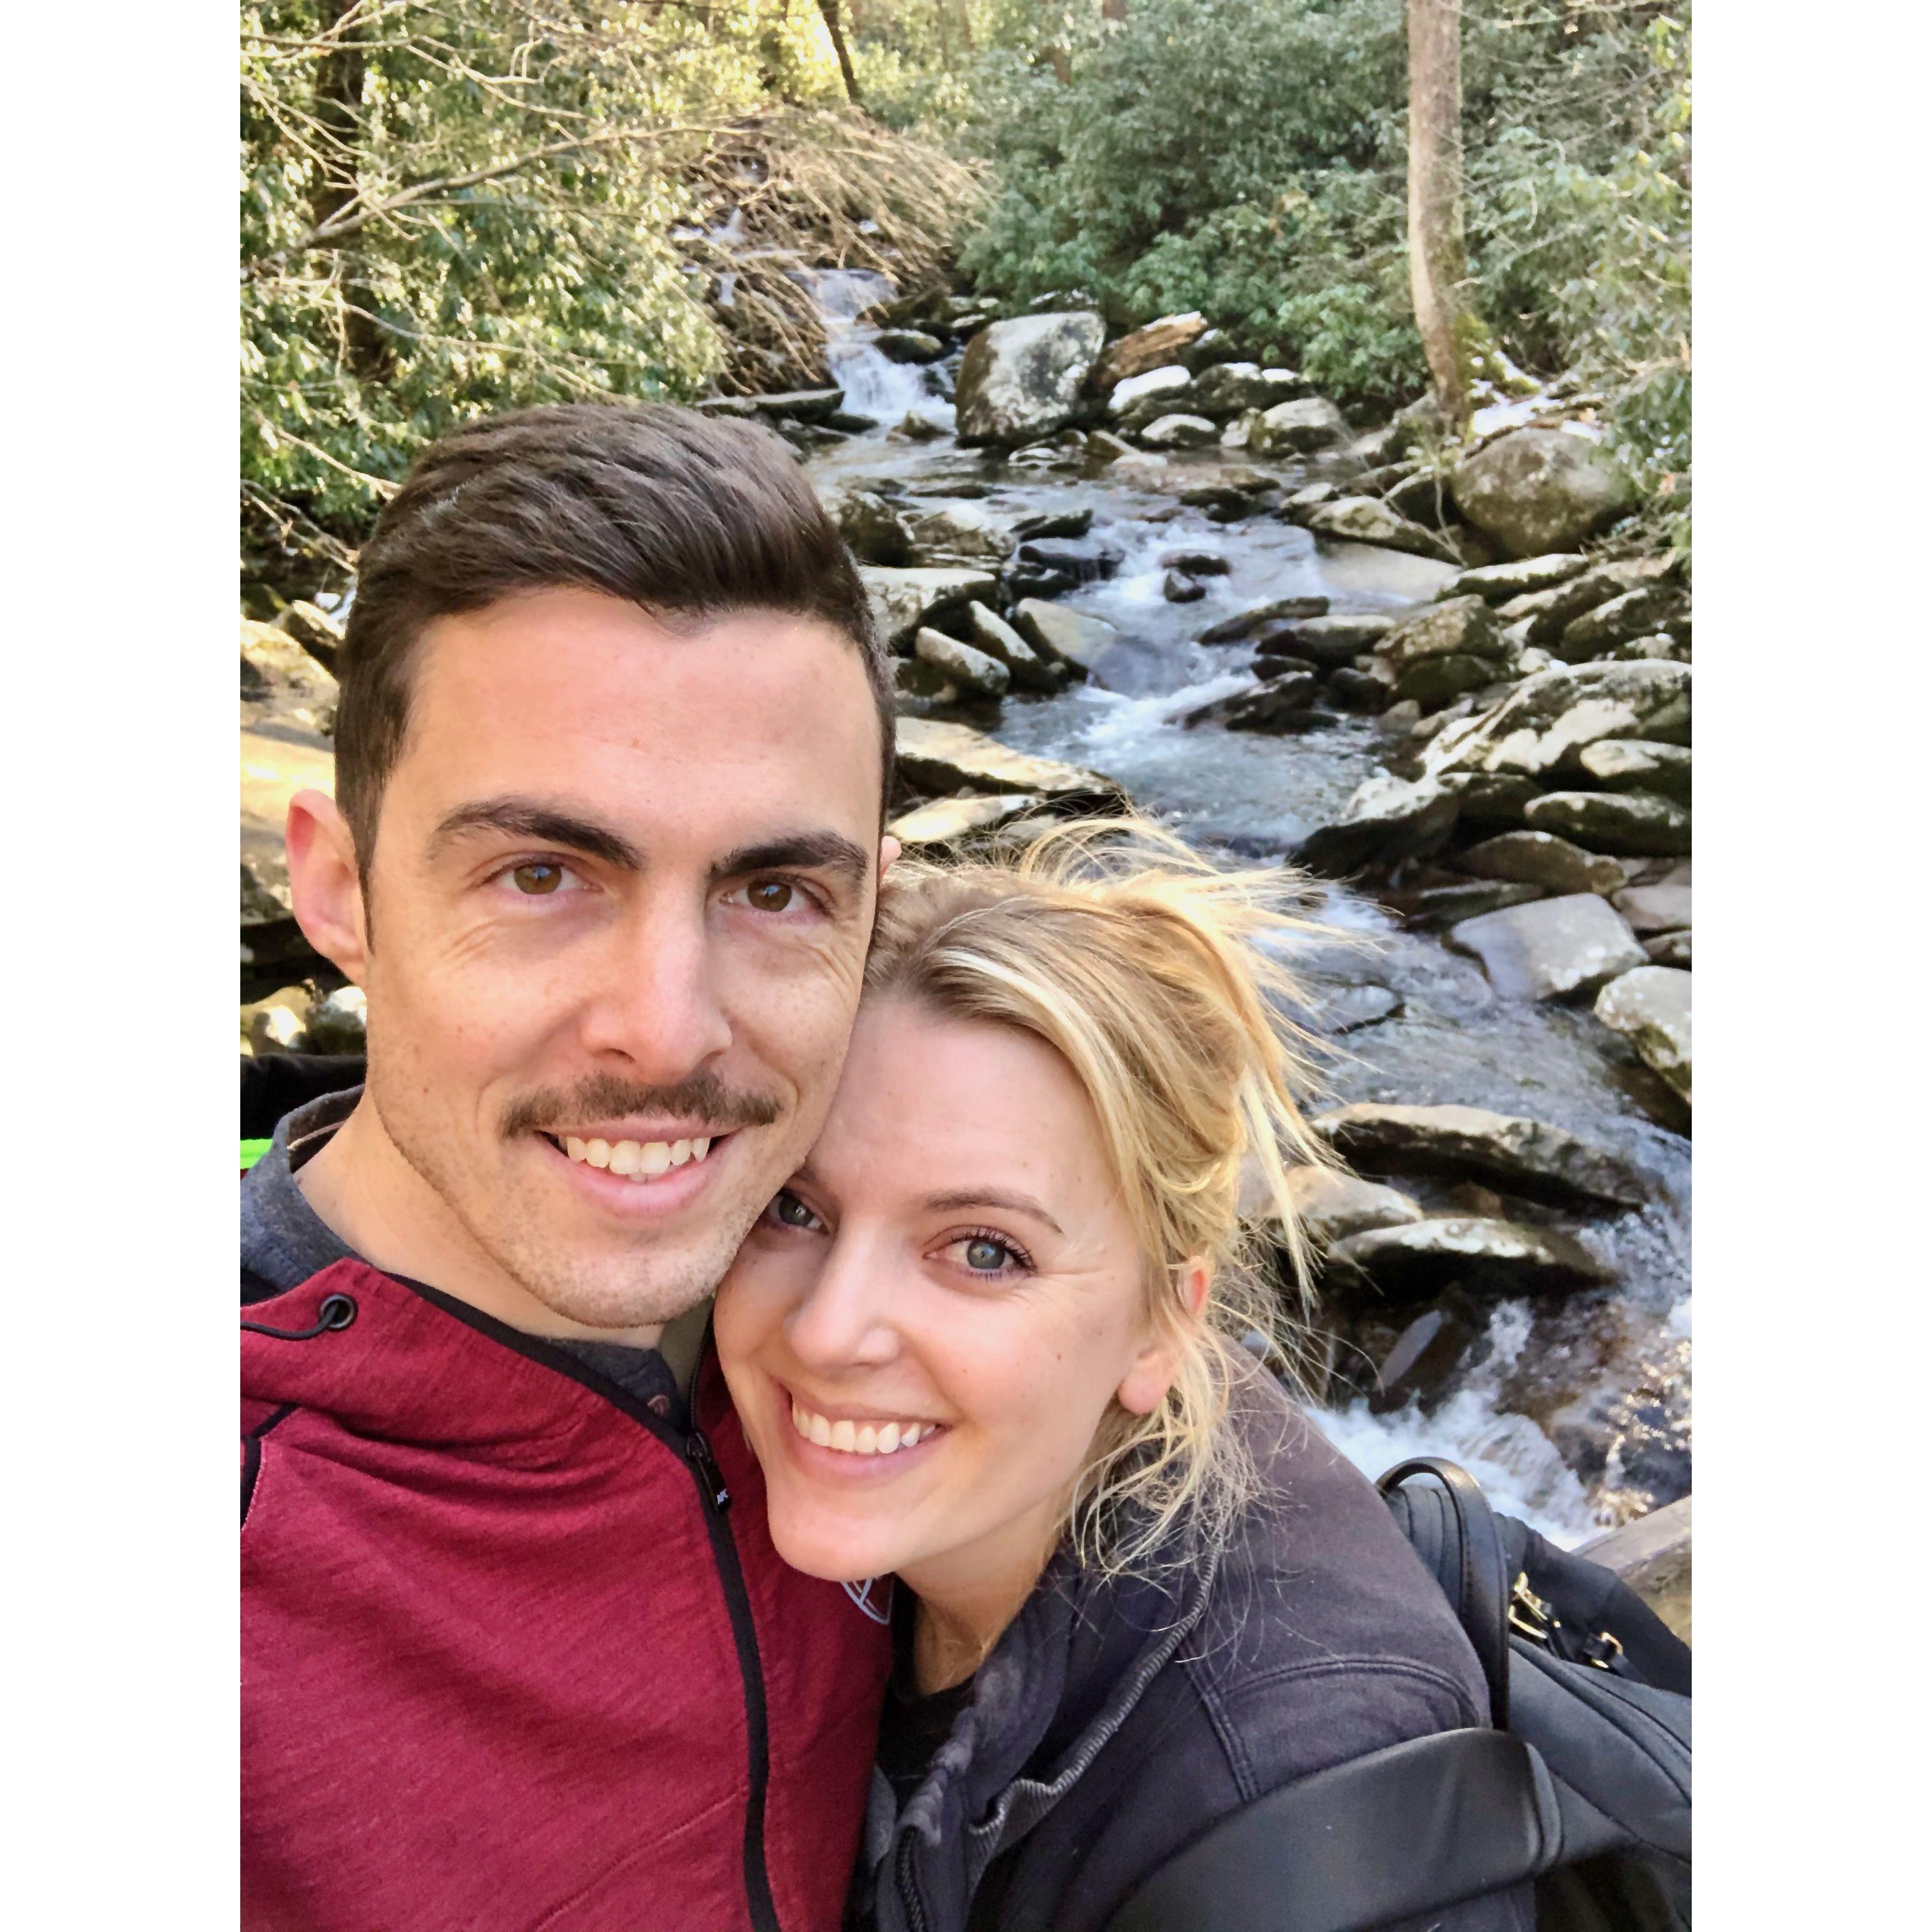
[[[1488,1723],[1476,1654],[1374,1486],[1271,1381],[1233,1426],[1267,1495],[1215,1559],[1105,1582],[1059,1557],[906,1804],[873,1776],[860,1924],[1101,1932],[1264,1793]],[[1534,1909],[1520,1888],[1424,1922],[1526,1932]]]

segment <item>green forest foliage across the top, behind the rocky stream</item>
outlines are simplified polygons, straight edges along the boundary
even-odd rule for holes
[[[850,58],[840,70],[831,21]],[[421,442],[810,377],[800,263],[1202,309],[1426,384],[1403,0],[247,0],[243,562],[346,562]],[[1470,0],[1468,305],[1689,520],[1690,14]],[[738,211],[736,214],[732,211]]]

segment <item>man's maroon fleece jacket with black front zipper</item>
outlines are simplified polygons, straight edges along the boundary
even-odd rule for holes
[[[243,1926],[835,1932],[887,1633],[709,1352],[686,1435],[361,1262],[242,1316]]]

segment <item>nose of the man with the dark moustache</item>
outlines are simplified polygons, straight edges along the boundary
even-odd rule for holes
[[[599,964],[583,1043],[597,1055],[620,1055],[651,1086],[674,1086],[730,1045],[717,968],[701,904],[639,902],[616,925]]]

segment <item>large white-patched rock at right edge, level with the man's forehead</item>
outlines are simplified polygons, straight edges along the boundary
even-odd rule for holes
[[[1443,730],[1424,752],[1430,775],[1515,771],[1546,779],[1577,771],[1584,746],[1605,738],[1687,744],[1687,665],[1563,665],[1538,670],[1492,711]],[[1563,831],[1561,825],[1542,827]],[[1588,840],[1584,840],[1588,842]]]

